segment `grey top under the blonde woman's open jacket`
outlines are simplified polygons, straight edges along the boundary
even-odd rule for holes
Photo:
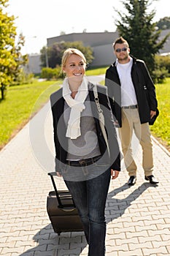
[[[64,121],[68,124],[71,108],[64,103]],[[67,160],[77,161],[96,157],[101,154],[98,146],[98,138],[96,135],[96,125],[90,106],[90,97],[85,99],[85,110],[82,110],[80,118],[81,136],[77,139],[68,138],[68,154]]]

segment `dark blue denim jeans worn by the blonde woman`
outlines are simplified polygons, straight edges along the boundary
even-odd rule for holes
[[[88,256],[105,255],[105,207],[110,169],[87,181],[65,181],[79,211],[89,244]]]

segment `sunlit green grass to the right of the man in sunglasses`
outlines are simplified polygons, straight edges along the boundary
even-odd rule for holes
[[[170,78],[166,78],[165,83],[157,84],[155,87],[160,114],[155,124],[150,126],[150,130],[152,135],[170,150]]]

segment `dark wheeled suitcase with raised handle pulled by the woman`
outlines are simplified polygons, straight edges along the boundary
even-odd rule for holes
[[[47,196],[47,214],[58,235],[61,232],[82,231],[82,222],[74,205],[69,190],[57,190],[53,176],[56,173],[48,173],[53,183],[54,191]]]

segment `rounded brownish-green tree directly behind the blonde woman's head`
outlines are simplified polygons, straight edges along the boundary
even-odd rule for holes
[[[55,68],[61,65],[61,56],[63,55],[64,50],[67,48],[77,48],[84,53],[85,58],[87,59],[88,64],[93,61],[93,50],[90,46],[85,47],[81,41],[75,42],[55,42],[52,46],[45,48],[43,47],[40,50],[42,67],[47,67],[45,54],[47,54],[49,67]]]

